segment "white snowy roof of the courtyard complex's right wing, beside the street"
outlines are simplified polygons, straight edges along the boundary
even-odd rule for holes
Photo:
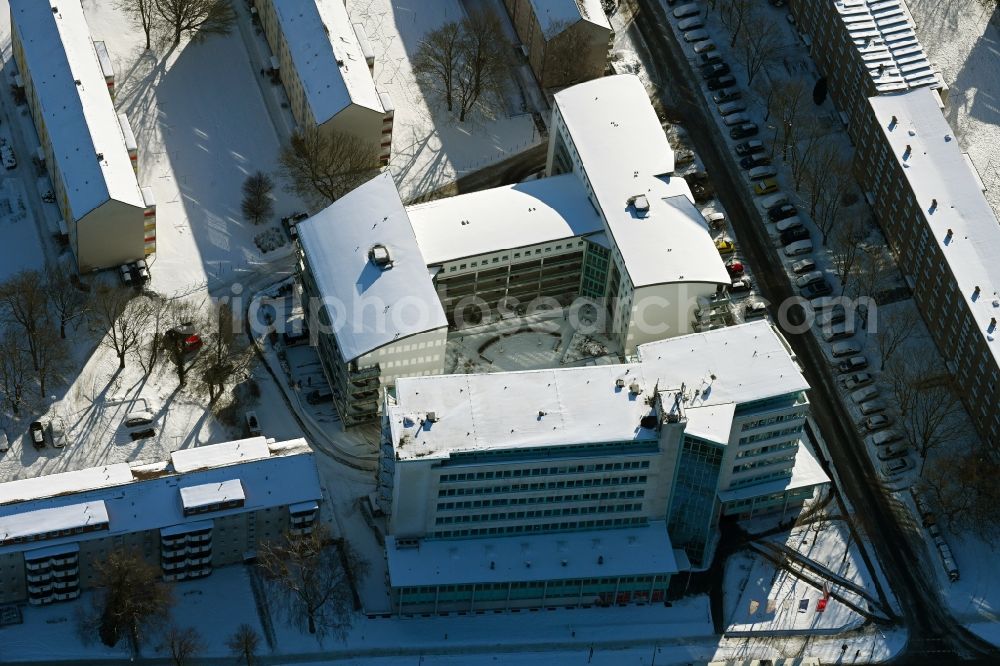
[[[557,93],[556,105],[632,284],[729,284],[690,188],[667,176],[674,153],[639,78],[581,83]],[[638,195],[649,205],[642,216]]]

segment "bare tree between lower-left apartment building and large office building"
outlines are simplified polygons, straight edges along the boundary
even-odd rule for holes
[[[279,543],[264,542],[258,563],[273,584],[288,618],[309,633],[343,634],[351,621],[351,577],[363,563],[349,545],[334,542],[319,524],[309,534],[288,533]]]

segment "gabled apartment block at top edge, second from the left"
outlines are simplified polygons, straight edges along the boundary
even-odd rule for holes
[[[342,0],[254,0],[300,127],[341,132],[392,150],[393,107],[372,78],[375,56],[364,27]]]

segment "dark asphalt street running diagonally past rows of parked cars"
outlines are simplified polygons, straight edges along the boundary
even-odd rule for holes
[[[644,66],[655,73],[664,108],[679,117],[711,176],[740,241],[742,256],[754,269],[758,290],[776,305],[793,296],[781,260],[768,237],[752,195],[729,155],[720,131],[710,117],[702,95],[666,16],[656,0],[635,0],[638,12],[630,29],[637,30],[649,52],[640,53]],[[902,622],[910,639],[900,660],[941,664],[956,660],[998,663],[1000,651],[968,632],[951,617],[933,583],[938,566],[911,527],[902,524],[892,500],[883,491],[854,430],[852,418],[839,398],[831,369],[811,333],[786,332],[803,365],[812,390],[813,419],[826,440],[832,462],[843,481],[843,492],[855,507],[864,507],[856,520],[872,541],[886,577],[902,608]],[[908,523],[912,525],[912,523]]]

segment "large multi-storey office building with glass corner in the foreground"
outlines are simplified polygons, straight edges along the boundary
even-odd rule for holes
[[[721,515],[828,483],[801,444],[807,389],[765,322],[623,365],[400,379],[376,493],[395,610],[662,599],[707,566]]]

